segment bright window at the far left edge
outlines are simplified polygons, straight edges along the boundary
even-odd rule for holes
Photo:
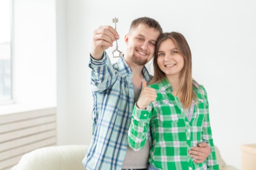
[[[12,0],[0,0],[0,104],[12,99]]]

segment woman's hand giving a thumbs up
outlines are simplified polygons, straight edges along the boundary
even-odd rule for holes
[[[140,109],[145,109],[150,102],[155,101],[157,98],[157,93],[155,88],[147,87],[145,79],[142,79],[142,91],[140,93],[139,100],[137,102],[137,107]]]

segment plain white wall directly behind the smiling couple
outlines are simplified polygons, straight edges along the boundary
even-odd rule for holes
[[[57,56],[58,64],[65,62],[58,72],[65,77],[64,84],[58,83],[58,88],[67,90],[66,95],[58,95],[66,100],[58,104],[58,109],[65,110],[61,117],[66,122],[59,127],[59,144],[89,144],[92,136],[87,64],[94,29],[114,26],[112,18],[119,18],[119,49],[125,51],[124,35],[131,21],[147,16],[159,21],[164,32],[178,31],[186,37],[192,51],[193,77],[208,92],[214,142],[225,161],[241,169],[240,146],[256,142],[255,2],[57,0],[57,9],[58,2],[65,4],[64,12],[61,9],[65,18],[57,10],[57,21],[62,22],[59,27],[57,22],[57,32],[65,38],[57,37],[57,42],[64,40],[65,46],[57,54],[65,51],[66,57]]]

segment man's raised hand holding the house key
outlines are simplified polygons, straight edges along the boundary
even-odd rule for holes
[[[100,26],[94,30],[90,54],[95,60],[101,60],[103,51],[113,46],[113,42],[119,38],[117,31],[112,26]]]

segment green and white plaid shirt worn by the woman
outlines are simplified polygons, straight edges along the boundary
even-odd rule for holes
[[[173,88],[168,80],[151,84],[157,99],[146,109],[134,107],[128,130],[128,143],[133,150],[143,148],[148,127],[153,138],[149,162],[159,170],[218,170],[215,148],[211,137],[207,93],[203,86],[193,83],[193,91],[198,97],[189,108],[189,116],[171,93]],[[189,156],[191,146],[207,141],[211,154],[203,163],[195,163]]]

